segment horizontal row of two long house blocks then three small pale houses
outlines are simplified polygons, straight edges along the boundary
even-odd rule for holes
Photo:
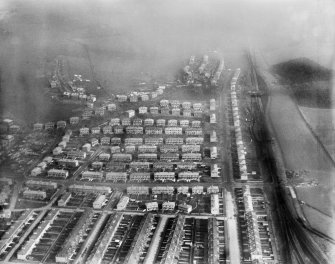
[[[174,194],[174,193],[179,193],[179,194],[188,194],[189,192],[193,194],[203,194],[205,192],[204,186],[192,186],[191,188],[188,186],[179,186],[179,187],[173,187],[173,186],[154,186],[150,188],[148,186],[128,186],[127,187],[127,194],[128,195],[148,195],[148,194]],[[219,186],[212,185],[208,186],[207,189],[207,194],[213,194],[213,193],[219,193],[220,188]]]

